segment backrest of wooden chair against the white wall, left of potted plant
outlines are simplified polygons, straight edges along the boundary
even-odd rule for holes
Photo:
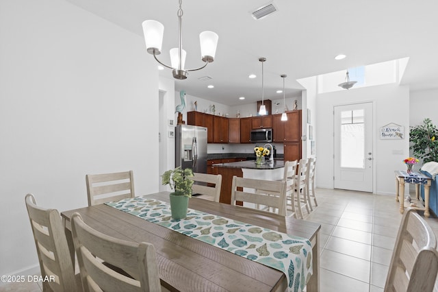
[[[133,171],[86,175],[88,206],[134,197]]]

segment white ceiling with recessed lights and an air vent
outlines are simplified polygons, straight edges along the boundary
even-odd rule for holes
[[[177,0],[67,0],[103,19],[142,36],[142,21],[164,24],[163,53],[177,47]],[[176,90],[229,106],[261,100],[261,63],[264,64],[265,99],[297,95],[297,79],[348,67],[409,57],[402,84],[411,90],[438,87],[438,1],[436,0],[274,0],[278,12],[255,21],[250,12],[266,0],[184,0],[183,48],[186,69],[202,65],[198,34],[219,35],[215,61],[187,80],[175,82]],[[146,54],[146,49],[144,49]],[[339,54],[344,60],[334,60]],[[149,55],[149,58],[153,58]],[[250,80],[250,73],[257,78]],[[172,76],[170,69],[163,75]],[[213,79],[200,81],[208,75]],[[339,83],[344,80],[339,80]],[[215,88],[208,89],[213,84]],[[245,96],[245,101],[238,97]]]

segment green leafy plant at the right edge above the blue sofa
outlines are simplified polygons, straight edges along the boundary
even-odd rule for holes
[[[409,149],[423,163],[438,162],[438,129],[430,119],[424,119],[422,125],[416,125],[409,130]]]

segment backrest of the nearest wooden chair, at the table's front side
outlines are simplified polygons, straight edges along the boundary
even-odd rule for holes
[[[161,291],[157,255],[151,243],[123,241],[94,230],[81,215],[71,217],[84,291]],[[129,275],[108,268],[105,263]]]

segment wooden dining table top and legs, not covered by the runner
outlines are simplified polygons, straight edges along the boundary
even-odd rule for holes
[[[169,202],[168,192],[153,193],[144,197]],[[189,208],[309,239],[312,244],[313,274],[307,282],[307,291],[320,291],[320,224],[196,197],[190,199]],[[277,269],[105,204],[61,213],[73,263],[75,254],[70,218],[74,212],[78,212],[89,226],[104,234],[127,241],[152,243],[157,251],[162,286],[170,291],[254,292],[287,289],[285,274]]]

